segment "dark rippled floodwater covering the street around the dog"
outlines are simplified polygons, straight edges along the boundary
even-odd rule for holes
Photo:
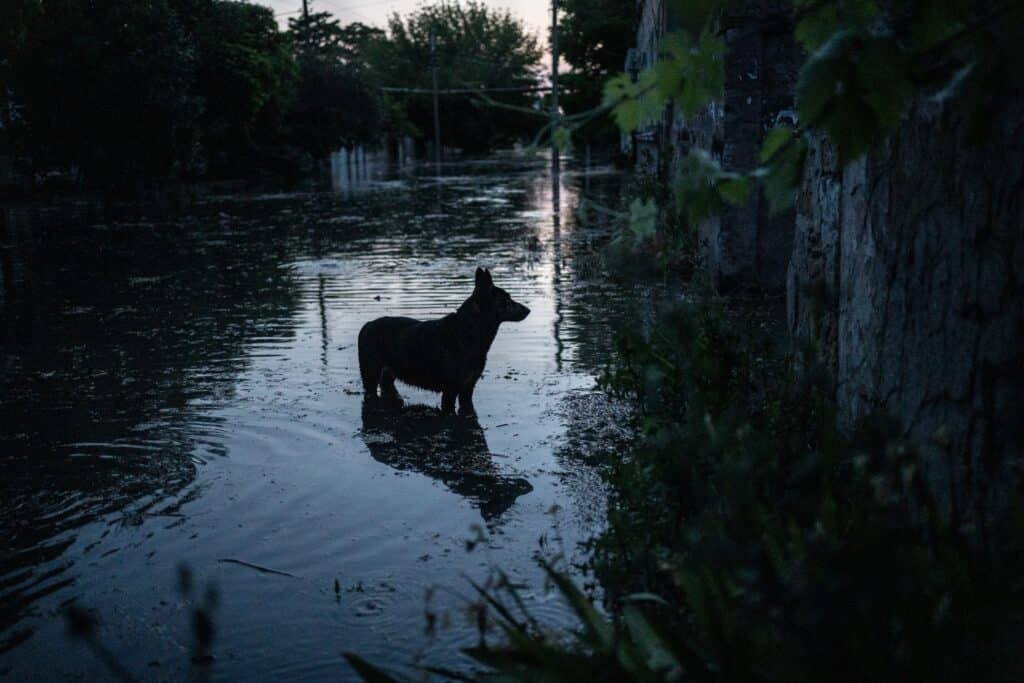
[[[347,650],[465,667],[468,580],[496,567],[568,620],[535,555],[582,557],[623,433],[595,379],[638,293],[601,275],[606,228],[572,211],[616,177],[570,166],[556,195],[521,156],[335,171],[171,218],[4,211],[0,677],[110,675],[67,637],[69,605],[145,680],[347,680]],[[478,418],[401,386],[404,409],[365,415],[359,327],[453,310],[477,265],[532,311],[502,326]]]

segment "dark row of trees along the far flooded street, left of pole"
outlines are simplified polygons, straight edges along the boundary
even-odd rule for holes
[[[432,133],[430,98],[379,86],[534,85],[537,40],[470,2],[393,16],[389,31],[312,11],[280,30],[233,0],[8,0],[0,7],[0,156],[86,182],[295,173],[341,146]],[[514,103],[531,105],[534,95]],[[521,113],[445,99],[444,141],[485,152]]]

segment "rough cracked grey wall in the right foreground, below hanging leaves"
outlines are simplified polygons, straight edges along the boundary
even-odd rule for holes
[[[787,283],[791,331],[819,345],[844,424],[895,417],[961,508],[991,504],[1024,451],[1024,98],[991,112],[972,144],[921,103],[842,172],[813,144]]]

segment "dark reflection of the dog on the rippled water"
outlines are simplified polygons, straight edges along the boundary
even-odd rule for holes
[[[374,460],[437,479],[469,500],[487,521],[534,490],[522,477],[498,472],[475,416],[369,399],[362,403],[362,440]]]

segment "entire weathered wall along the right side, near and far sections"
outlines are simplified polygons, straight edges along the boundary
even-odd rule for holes
[[[645,23],[671,24],[648,4],[662,5],[641,1],[641,49],[658,30]],[[793,108],[787,7],[733,6],[724,105],[659,124],[663,158],[697,146],[728,169],[757,163],[764,132]],[[818,139],[795,214],[773,218],[756,198],[699,228],[720,286],[784,282],[795,347],[819,349],[843,424],[894,418],[939,499],[973,516],[998,504],[1006,487],[990,484],[1024,452],[1024,96],[989,116],[979,143],[954,106],[920,101],[843,170]]]

